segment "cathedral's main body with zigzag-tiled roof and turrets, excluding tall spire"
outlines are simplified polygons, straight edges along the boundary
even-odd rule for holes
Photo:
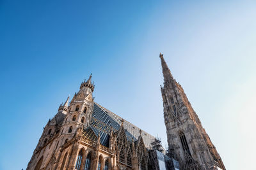
[[[61,104],[27,169],[148,169],[155,138],[93,101],[92,75]]]

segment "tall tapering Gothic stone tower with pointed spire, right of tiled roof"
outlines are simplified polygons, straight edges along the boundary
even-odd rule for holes
[[[225,169],[216,148],[175,81],[160,53],[164,86],[161,87],[169,152],[181,169]]]

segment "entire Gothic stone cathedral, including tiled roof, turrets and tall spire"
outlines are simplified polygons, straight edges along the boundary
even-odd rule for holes
[[[168,150],[156,137],[95,103],[91,74],[47,122],[27,169],[225,170],[163,54],[159,57]]]

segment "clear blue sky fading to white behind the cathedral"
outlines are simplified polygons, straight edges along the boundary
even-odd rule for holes
[[[166,145],[159,52],[227,169],[256,152],[255,1],[0,1],[0,169],[93,73],[95,101]]]

